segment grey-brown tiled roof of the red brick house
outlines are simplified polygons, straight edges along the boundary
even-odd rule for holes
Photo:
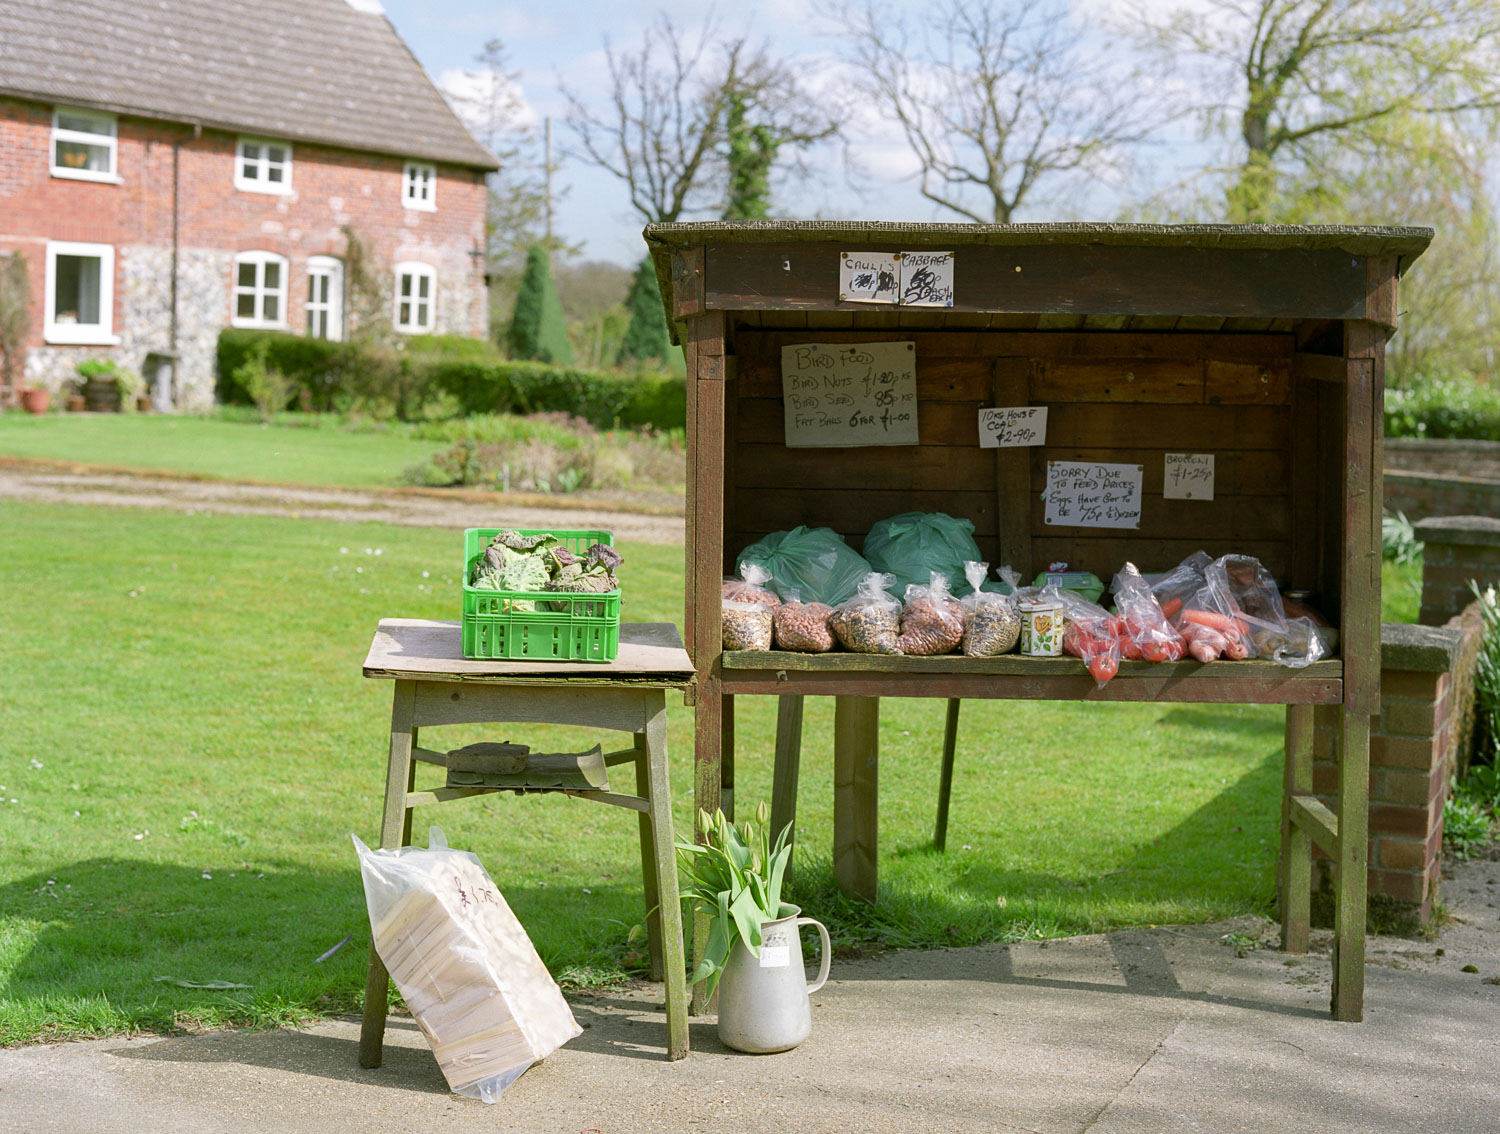
[[[0,94],[496,168],[370,0],[0,0]]]

